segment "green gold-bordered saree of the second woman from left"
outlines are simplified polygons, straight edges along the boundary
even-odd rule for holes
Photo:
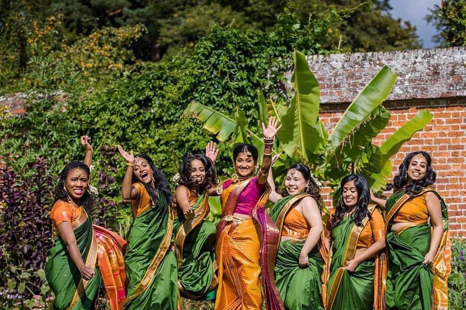
[[[136,218],[127,235],[125,269],[128,298],[124,309],[175,310],[178,276],[170,250],[173,209],[158,191],[157,204]]]

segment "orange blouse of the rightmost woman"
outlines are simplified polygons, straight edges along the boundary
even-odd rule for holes
[[[393,221],[399,223],[426,223],[429,218],[426,204],[427,193],[405,202],[395,214]]]

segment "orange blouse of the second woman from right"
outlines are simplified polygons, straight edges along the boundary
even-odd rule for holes
[[[330,216],[327,221],[325,236],[329,239],[332,238],[332,220],[335,215],[335,209],[330,211]],[[359,235],[357,248],[369,248],[377,240],[385,238],[385,221],[382,214],[376,208],[366,224],[361,234]]]

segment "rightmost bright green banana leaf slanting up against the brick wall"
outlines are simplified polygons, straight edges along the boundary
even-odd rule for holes
[[[395,155],[404,142],[410,140],[417,131],[422,130],[429,124],[432,117],[433,115],[429,112],[429,109],[423,109],[395,131],[380,147],[383,160],[388,160]]]

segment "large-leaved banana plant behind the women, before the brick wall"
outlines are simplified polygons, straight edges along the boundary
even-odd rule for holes
[[[314,173],[327,186],[336,190],[343,177],[350,172],[366,176],[375,192],[386,184],[392,171],[391,156],[401,145],[410,140],[414,133],[422,130],[432,119],[427,109],[401,126],[380,147],[371,143],[388,124],[390,112],[382,105],[395,84],[397,74],[384,66],[353,100],[329,135],[318,118],[319,84],[309,70],[306,58],[299,51],[293,54],[295,70],[291,79],[294,90],[288,108],[270,100],[267,104],[258,91],[259,120],[247,120],[238,109],[235,118],[222,114],[197,102],[192,102],[184,111],[186,117],[196,117],[203,128],[216,135],[219,141],[248,141],[262,150],[264,144],[260,126],[250,130],[248,124],[265,122],[270,113],[276,115],[283,127],[278,132],[278,145],[274,152],[284,151],[279,159],[279,173],[293,162],[303,162],[312,167]]]

